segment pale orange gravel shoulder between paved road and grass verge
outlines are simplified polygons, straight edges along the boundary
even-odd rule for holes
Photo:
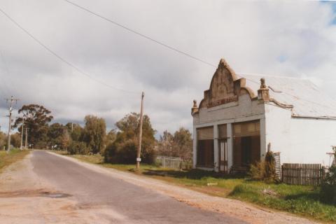
[[[160,181],[157,179],[151,179],[146,176],[139,176],[136,174],[130,174],[127,172],[121,172],[116,169],[105,168],[99,165],[92,165],[87,162],[81,162],[75,158],[69,158],[64,155],[57,155],[59,157],[65,158],[66,160],[71,160],[76,162],[88,169],[94,169],[96,172],[102,172],[104,174],[109,174],[114,178],[127,181],[137,186],[148,188],[154,190],[158,193],[169,195],[174,197],[180,202],[185,202],[193,207],[198,207],[200,209],[205,209],[207,211],[216,211],[221,214],[225,214],[231,217],[239,218],[248,223],[316,223],[310,221],[307,218],[300,218],[297,216],[292,216],[285,212],[273,211],[271,209],[265,209],[261,207],[256,207],[252,204],[246,202],[241,202],[238,200],[231,200],[223,197],[214,197],[206,195],[204,193],[198,193],[194,190],[189,190],[187,188],[182,188],[169,184],[165,181]]]

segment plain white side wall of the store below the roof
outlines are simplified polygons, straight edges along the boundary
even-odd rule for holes
[[[336,145],[336,120],[293,118],[291,111],[265,104],[266,144],[280,152],[281,163],[329,165],[331,146]]]

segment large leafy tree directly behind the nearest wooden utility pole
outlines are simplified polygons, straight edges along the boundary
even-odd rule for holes
[[[106,148],[106,162],[132,164],[136,161],[139,144],[139,118],[138,113],[130,113],[116,123],[120,131],[116,140]],[[153,130],[150,118],[146,115],[142,127],[141,159],[142,162],[151,164],[155,161],[155,130]]]

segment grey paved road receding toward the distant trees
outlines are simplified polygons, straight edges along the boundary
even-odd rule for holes
[[[95,172],[57,155],[34,151],[34,172],[57,190],[72,195],[78,207],[104,206],[111,223],[244,223],[210,211],[191,207],[172,197]],[[108,218],[108,217],[106,217]]]

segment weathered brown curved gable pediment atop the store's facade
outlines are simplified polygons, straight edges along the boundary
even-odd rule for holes
[[[250,88],[245,87],[245,83],[245,78],[238,79],[235,71],[230,68],[225,59],[221,59],[211,79],[209,90],[204,91],[204,99],[200,103],[200,108],[237,102],[242,89],[250,94],[251,99],[254,98],[255,94]]]

